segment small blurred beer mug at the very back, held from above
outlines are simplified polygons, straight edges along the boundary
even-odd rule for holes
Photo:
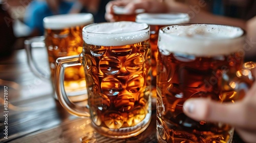
[[[135,13],[127,13],[122,6],[113,6],[115,21],[135,21],[136,15],[145,12],[144,9],[136,9]]]

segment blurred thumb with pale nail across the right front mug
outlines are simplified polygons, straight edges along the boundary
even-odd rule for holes
[[[196,121],[221,122],[239,127],[247,124],[242,102],[221,104],[210,99],[189,99],[184,103],[183,111]]]

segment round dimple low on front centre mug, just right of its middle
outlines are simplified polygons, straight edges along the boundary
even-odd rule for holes
[[[134,97],[130,94],[122,94],[118,96],[114,101],[115,107],[121,112],[132,109],[134,107],[134,104]]]

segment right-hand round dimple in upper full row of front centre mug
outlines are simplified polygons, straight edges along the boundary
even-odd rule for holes
[[[131,73],[135,73],[143,68],[144,58],[140,53],[133,53],[127,57],[125,68]]]

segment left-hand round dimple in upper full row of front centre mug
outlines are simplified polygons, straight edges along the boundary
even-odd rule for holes
[[[103,57],[99,62],[100,70],[106,75],[115,75],[121,68],[119,59],[112,56]]]

